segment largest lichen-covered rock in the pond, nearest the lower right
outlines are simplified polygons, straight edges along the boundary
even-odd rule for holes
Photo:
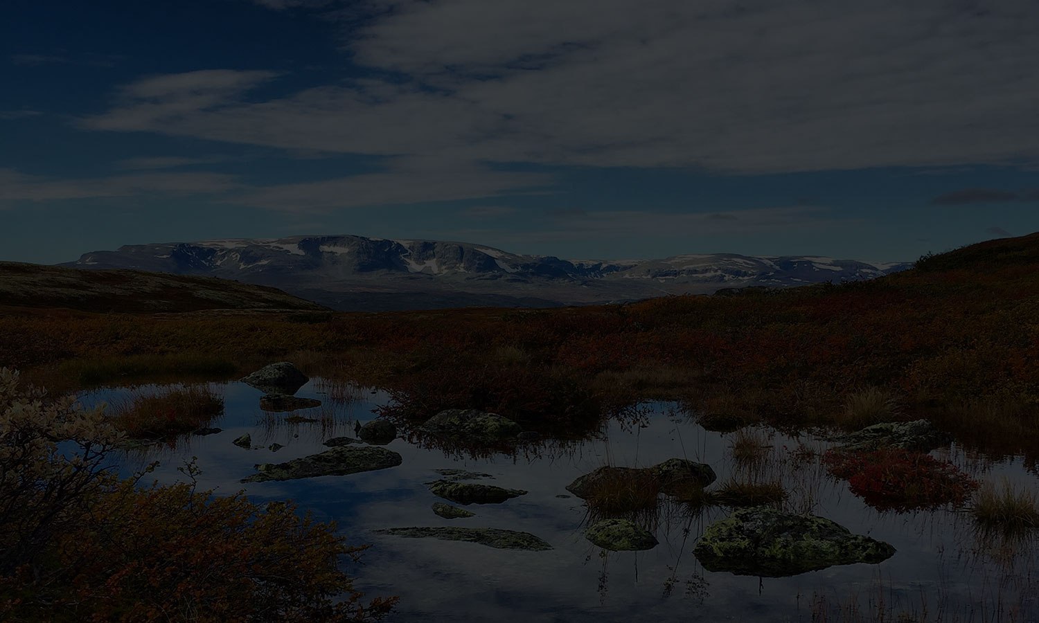
[[[823,517],[755,507],[709,525],[693,553],[708,571],[783,577],[833,565],[880,563],[895,548]]]

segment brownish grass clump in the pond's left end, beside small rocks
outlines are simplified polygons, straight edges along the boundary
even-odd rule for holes
[[[132,395],[109,405],[112,424],[136,439],[170,438],[208,425],[223,412],[223,399],[201,385]]]

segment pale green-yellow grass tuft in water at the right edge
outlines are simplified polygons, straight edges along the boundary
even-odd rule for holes
[[[975,494],[970,515],[982,536],[1010,540],[1030,537],[1039,529],[1039,495],[1018,489],[1006,478],[998,488],[987,482]]]

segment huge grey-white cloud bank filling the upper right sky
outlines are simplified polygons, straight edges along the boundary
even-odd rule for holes
[[[344,20],[345,50],[392,80],[248,101],[273,74],[154,77],[84,125],[287,150],[739,173],[1039,162],[1039,76],[1021,69],[1039,56],[1031,0],[984,11],[945,0],[363,6],[370,19]]]

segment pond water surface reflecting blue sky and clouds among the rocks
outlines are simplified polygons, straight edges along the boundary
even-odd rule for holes
[[[122,465],[123,473],[157,459],[162,464],[154,478],[171,482],[182,477],[177,467],[196,456],[203,470],[203,488],[215,488],[219,494],[244,489],[257,502],[293,498],[318,519],[337,520],[351,542],[374,543],[364,554],[363,564],[351,564],[348,571],[357,577],[356,586],[371,595],[401,597],[400,614],[394,620],[810,621],[814,597],[825,596],[833,604],[857,595],[865,606],[876,593],[878,580],[883,586],[885,603],[899,602],[903,610],[918,611],[922,595],[928,595],[932,614],[939,594],[955,612],[969,607],[967,604],[978,602],[981,596],[992,601],[1001,592],[1005,602],[1015,603],[1019,595],[1031,595],[1035,589],[1018,586],[1001,591],[996,566],[988,558],[979,559],[973,553],[970,522],[962,514],[877,512],[849,493],[846,483],[825,478],[818,464],[797,469],[788,463],[776,471],[794,490],[789,504],[796,508],[810,495],[815,514],[833,519],[853,533],[891,543],[898,549],[895,557],[880,565],[847,565],[763,580],[707,572],[692,556],[692,548],[710,521],[725,516],[719,509],[708,510],[700,517],[690,517],[681,510],[665,512],[660,517],[660,545],[656,548],[603,552],[583,537],[585,509],[581,499],[557,497],[567,493],[564,486],[578,476],[608,463],[646,466],[671,457],[711,464],[719,483],[739,469],[729,450],[732,435],[704,431],[670,412],[665,404],[652,405],[644,426],[611,422],[594,439],[566,445],[550,442],[540,453],[528,453],[530,456],[499,454],[489,459],[465,459],[396,439],[388,448],[403,457],[399,467],[346,477],[242,484],[239,479],[254,473],[256,463],[282,462],[322,452],[327,450],[321,444],[323,439],[352,436],[354,421],[373,418],[372,409],[384,404],[388,397],[364,390],[355,402],[336,403],[319,394],[319,385],[312,381],[297,396],[318,398],[324,405],[295,413],[310,417],[324,413],[326,421],[328,416],[335,419],[335,425],[271,426],[270,416],[259,408],[259,390],[242,383],[213,387],[224,396],[225,413],[211,426],[221,427],[223,432],[189,437],[176,450],[130,455]],[[104,390],[84,396],[83,402],[116,396]],[[246,432],[251,434],[254,446],[263,449],[244,450],[232,444]],[[814,438],[802,437],[801,441],[817,451],[826,448],[826,442]],[[276,454],[267,450],[274,442],[285,448]],[[798,442],[778,434],[769,440],[780,456],[788,456],[781,450],[783,445],[794,449]],[[963,457],[955,449],[952,458],[962,463]],[[477,514],[470,519],[443,519],[430,510],[438,498],[423,484],[438,478],[433,469],[442,467],[486,471],[495,480],[481,482],[526,489],[529,493],[501,505],[467,507]],[[1029,487],[1036,486],[1035,476],[1027,473],[1019,462],[986,464],[984,472],[979,468],[973,471],[979,478],[997,480],[1007,475]],[[549,541],[555,549],[511,551],[371,533],[409,525],[525,531]],[[1020,553],[1028,572],[1033,568],[1035,552]],[[697,590],[699,578],[707,581],[705,592]],[[669,579],[673,587],[667,594]],[[1027,616],[1018,620],[1039,618],[1039,606],[1031,599]]]

